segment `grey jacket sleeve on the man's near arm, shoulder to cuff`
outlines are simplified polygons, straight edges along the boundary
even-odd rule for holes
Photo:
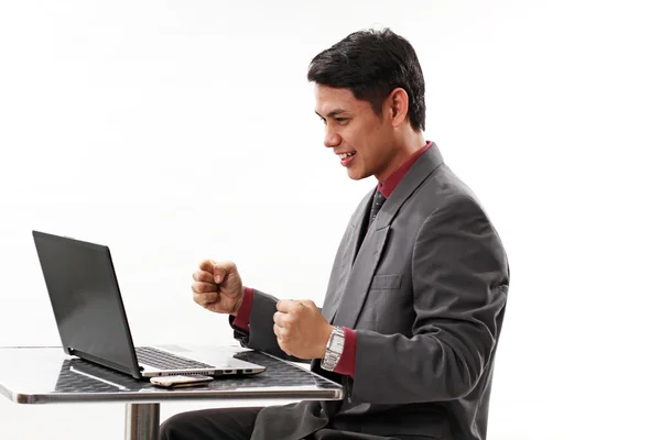
[[[353,402],[457,399],[472,392],[491,359],[509,268],[479,205],[462,196],[432,212],[415,238],[411,268],[412,337],[357,330]]]

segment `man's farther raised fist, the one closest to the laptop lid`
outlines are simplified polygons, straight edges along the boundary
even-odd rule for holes
[[[235,315],[243,299],[241,276],[232,262],[205,260],[193,273],[193,299],[216,314]]]

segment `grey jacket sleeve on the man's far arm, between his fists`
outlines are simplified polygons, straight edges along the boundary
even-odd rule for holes
[[[235,317],[229,317],[229,324],[234,330],[234,337],[241,346],[262,351],[277,358],[291,362],[310,362],[295,356],[290,356],[280,349],[275,333],[273,333],[273,315],[275,315],[278,298],[253,289],[252,309],[250,311],[250,330],[234,324]]]

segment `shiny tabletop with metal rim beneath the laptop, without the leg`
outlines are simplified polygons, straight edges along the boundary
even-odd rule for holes
[[[260,364],[267,371],[257,375],[218,377],[208,385],[195,388],[169,389],[138,381],[127,374],[68,356],[61,348],[0,348],[0,392],[13,400],[56,402],[98,397],[100,400],[119,396],[151,395],[176,397],[176,395],[207,394],[209,397],[253,397],[251,393],[270,395],[314,392],[307,397],[342,398],[342,386],[297,365],[283,362],[268,354],[241,351],[235,358]],[[11,365],[8,367],[8,365]],[[326,395],[321,393],[326,392]],[[17,398],[43,396],[43,398]],[[56,398],[59,396],[59,398]]]

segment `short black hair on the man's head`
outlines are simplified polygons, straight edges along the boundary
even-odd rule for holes
[[[424,130],[424,77],[411,43],[386,28],[358,31],[317,54],[307,70],[307,80],[346,88],[356,99],[368,101],[381,116],[381,106],[392,90],[409,95],[409,121]]]

